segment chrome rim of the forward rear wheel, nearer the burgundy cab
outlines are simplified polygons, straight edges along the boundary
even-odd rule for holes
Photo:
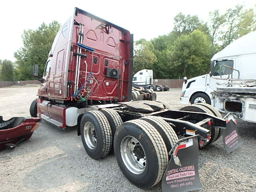
[[[91,122],[86,122],[84,125],[84,140],[90,149],[96,148],[97,134]]]

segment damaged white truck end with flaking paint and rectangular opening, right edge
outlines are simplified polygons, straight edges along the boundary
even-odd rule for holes
[[[256,123],[256,80],[228,79],[217,82],[212,92],[214,107],[224,114]]]

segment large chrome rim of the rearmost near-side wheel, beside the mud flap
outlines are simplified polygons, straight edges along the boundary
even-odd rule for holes
[[[146,155],[140,142],[132,136],[126,136],[120,144],[122,160],[128,170],[141,174],[146,168]]]

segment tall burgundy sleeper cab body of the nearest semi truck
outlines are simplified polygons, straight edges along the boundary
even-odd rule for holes
[[[92,83],[89,100],[128,101],[129,82],[131,82],[130,58],[132,58],[130,42],[133,41],[130,32],[88,12],[78,8],[75,10],[74,16],[56,35],[43,77],[45,83],[38,90],[38,96],[74,101],[71,95],[74,94],[78,57],[74,52],[78,52],[79,25],[77,24],[82,24],[84,25],[82,43],[95,49],[95,52],[82,49],[81,53],[86,54],[87,58],[81,57],[80,60],[78,87],[84,83],[87,63],[87,75],[93,72],[96,78]],[[106,68],[119,70],[120,78],[106,77]]]

